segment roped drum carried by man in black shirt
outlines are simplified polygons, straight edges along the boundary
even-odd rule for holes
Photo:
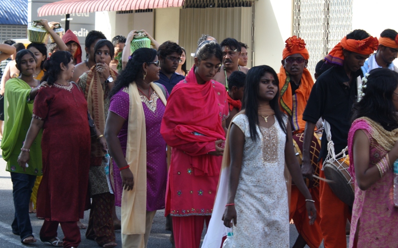
[[[332,180],[329,187],[333,193],[345,204],[352,207],[354,203],[354,181],[348,171],[350,161],[348,156],[333,163],[323,163],[326,179]]]

